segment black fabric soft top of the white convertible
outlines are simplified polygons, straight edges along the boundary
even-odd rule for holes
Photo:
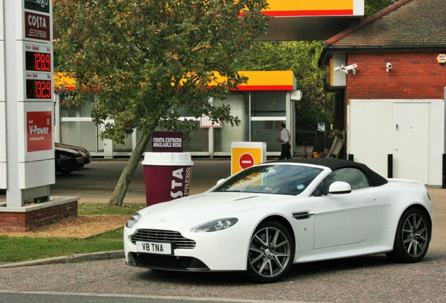
[[[382,177],[378,173],[368,168],[363,163],[358,163],[349,160],[333,159],[333,158],[308,158],[308,159],[290,159],[290,160],[279,160],[273,163],[306,163],[317,166],[325,166],[331,170],[338,170],[340,168],[358,168],[369,180],[370,186],[377,187],[386,184],[388,181],[386,178]]]

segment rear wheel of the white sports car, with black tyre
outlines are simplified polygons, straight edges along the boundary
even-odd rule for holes
[[[398,222],[393,251],[386,255],[393,262],[419,262],[426,255],[430,240],[431,227],[426,215],[417,208],[410,208]]]

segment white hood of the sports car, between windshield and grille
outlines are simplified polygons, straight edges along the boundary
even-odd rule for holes
[[[137,228],[180,230],[225,217],[262,215],[267,208],[283,201],[283,195],[208,192],[159,203],[140,210]]]

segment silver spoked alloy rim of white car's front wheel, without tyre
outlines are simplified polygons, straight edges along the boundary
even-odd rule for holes
[[[252,236],[248,262],[259,276],[280,275],[290,262],[290,240],[280,229],[265,227]]]

